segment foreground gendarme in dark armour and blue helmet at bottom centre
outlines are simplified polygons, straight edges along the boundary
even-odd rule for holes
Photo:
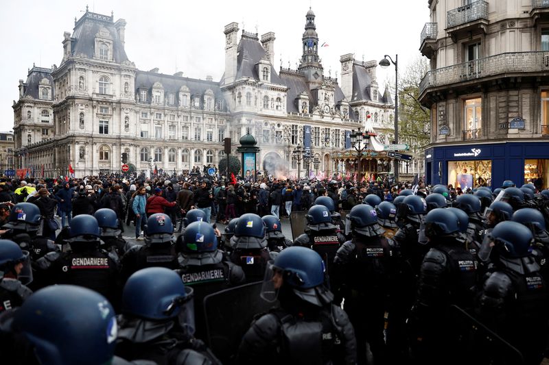
[[[259,316],[244,335],[237,364],[355,364],[353,327],[325,286],[318,253],[304,247],[283,250],[266,271],[266,300],[280,307]]]

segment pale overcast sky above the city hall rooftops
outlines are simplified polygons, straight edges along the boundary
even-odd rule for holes
[[[274,68],[280,60],[296,68],[301,36],[309,5],[316,15],[316,32],[325,75],[338,77],[340,55],[381,60],[399,55],[399,73],[421,56],[419,36],[429,21],[428,0],[362,1],[142,1],[48,0],[5,1],[0,12],[1,42],[0,130],[13,127],[13,101],[19,98],[19,79],[26,80],[32,64],[59,65],[63,32],[73,32],[74,18],[89,11],[126,19],[126,54],[140,70],[160,68],[161,73],[183,71],[186,77],[219,80],[224,72],[224,26],[239,23],[240,32],[259,36],[274,32]],[[268,8],[264,5],[268,4]],[[244,23],[244,25],[243,25]],[[384,88],[395,68],[378,67],[378,84]],[[394,80],[394,78],[393,78]]]

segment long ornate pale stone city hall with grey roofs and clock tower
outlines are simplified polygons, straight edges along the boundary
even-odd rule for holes
[[[237,23],[226,25],[224,75],[213,81],[140,71],[124,48],[126,21],[86,11],[73,33],[65,32],[60,66],[33,67],[27,82],[20,81],[16,153],[28,157],[19,165],[44,166],[45,175],[54,176],[66,175],[71,164],[76,176],[84,176],[120,171],[121,153],[128,153],[137,171],[152,161],[180,172],[217,165],[223,139],[231,137],[236,147],[249,131],[261,148],[261,170],[297,175],[292,150],[301,145],[312,149],[319,172],[340,171],[344,164],[331,156],[349,147],[345,132],[369,123],[388,143],[394,105],[378,89],[373,61],[342,56],[341,86],[324,75],[314,18],[309,10],[301,64],[279,72],[274,33],[259,39],[239,34]]]

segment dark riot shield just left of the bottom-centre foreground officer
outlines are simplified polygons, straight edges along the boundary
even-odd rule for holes
[[[244,333],[253,317],[277,307],[278,302],[262,299],[263,281],[210,294],[204,299],[209,347],[223,364],[234,364]]]

